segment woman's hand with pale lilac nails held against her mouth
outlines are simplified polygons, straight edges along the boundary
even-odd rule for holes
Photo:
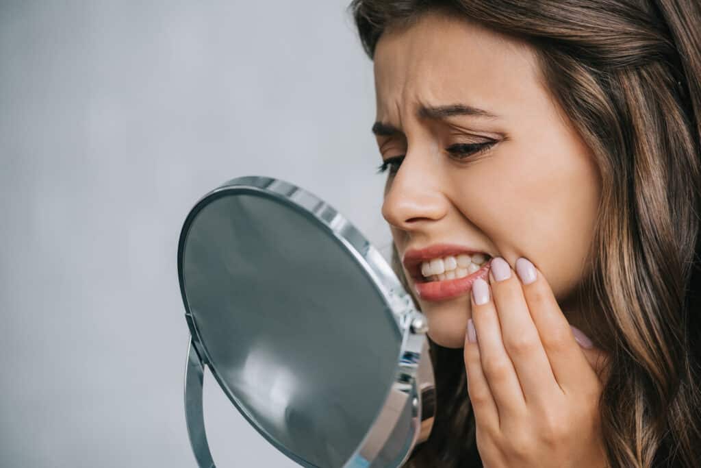
[[[606,467],[599,416],[603,355],[577,331],[578,344],[540,271],[525,258],[515,266],[518,276],[494,258],[489,284],[478,279],[472,285],[465,369],[482,463]]]

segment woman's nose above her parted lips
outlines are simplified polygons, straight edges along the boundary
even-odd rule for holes
[[[421,156],[407,152],[399,170],[387,182],[382,203],[383,218],[404,231],[440,220],[448,209],[440,174],[431,167],[429,158],[422,159]]]

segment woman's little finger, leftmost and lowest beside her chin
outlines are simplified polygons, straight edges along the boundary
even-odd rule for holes
[[[491,390],[482,372],[482,362],[479,360],[479,345],[472,319],[468,320],[465,333],[465,373],[468,378],[468,395],[475,413],[475,423],[479,427],[498,428],[499,412],[491,396]]]

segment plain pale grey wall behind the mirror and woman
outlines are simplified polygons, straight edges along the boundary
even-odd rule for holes
[[[372,62],[348,1],[0,3],[0,467],[193,467],[177,236],[240,175],[383,255]],[[219,466],[294,467],[213,379]]]

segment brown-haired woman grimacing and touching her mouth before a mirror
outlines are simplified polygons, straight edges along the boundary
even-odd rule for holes
[[[697,2],[351,8],[437,380],[405,466],[700,466]]]

